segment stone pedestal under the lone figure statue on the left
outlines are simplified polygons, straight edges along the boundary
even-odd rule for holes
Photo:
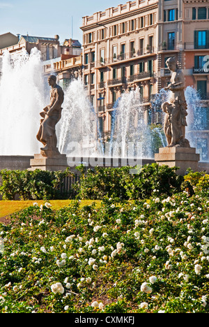
[[[65,154],[59,154],[56,157],[43,157],[42,154],[34,154],[34,159],[31,159],[31,168],[29,170],[50,170],[58,171],[68,168],[68,161]]]

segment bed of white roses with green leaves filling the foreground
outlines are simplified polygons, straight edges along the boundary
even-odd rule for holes
[[[209,312],[208,191],[34,205],[0,226],[0,312]]]

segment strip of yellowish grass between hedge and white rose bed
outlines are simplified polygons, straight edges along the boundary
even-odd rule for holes
[[[53,210],[59,210],[61,208],[68,207],[73,200],[52,200],[47,201],[52,204]],[[6,217],[8,215],[12,215],[15,212],[19,212],[26,208],[29,208],[33,203],[38,203],[38,205],[44,205],[46,201],[0,201],[0,218]],[[84,200],[81,201],[81,205],[91,205],[93,201],[91,200]],[[100,201],[94,201],[100,205]]]

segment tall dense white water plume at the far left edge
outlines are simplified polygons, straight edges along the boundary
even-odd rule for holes
[[[40,52],[3,54],[0,84],[0,154],[33,155],[39,150],[36,133],[44,108]]]

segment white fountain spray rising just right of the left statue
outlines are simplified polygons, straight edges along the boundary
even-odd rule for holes
[[[98,142],[98,119],[80,79],[72,80],[65,90],[62,119],[57,130],[59,150],[68,157],[104,154]]]

